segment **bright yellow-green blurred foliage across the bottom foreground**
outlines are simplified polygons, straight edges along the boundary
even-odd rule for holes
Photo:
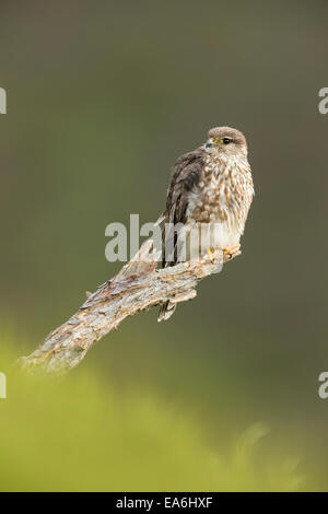
[[[1,340],[1,491],[297,490],[295,463],[266,446],[256,423],[224,457],[209,447],[195,420],[145,392],[115,392],[84,370],[28,377],[12,367]],[[3,348],[7,350],[4,351]],[[261,454],[259,460],[258,454]],[[272,462],[280,463],[272,465]]]

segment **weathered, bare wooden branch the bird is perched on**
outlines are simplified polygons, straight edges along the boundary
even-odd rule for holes
[[[156,269],[159,253],[152,252],[152,240],[148,240],[115,278],[89,295],[77,314],[54,330],[31,355],[22,358],[23,367],[60,373],[77,366],[93,344],[126,317],[167,300],[178,303],[194,299],[199,280],[241,254],[218,250],[211,259]]]

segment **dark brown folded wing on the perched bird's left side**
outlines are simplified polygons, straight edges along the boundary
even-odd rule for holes
[[[200,180],[204,165],[204,152],[202,147],[194,152],[185,153],[172,168],[169,186],[167,190],[166,209],[164,212],[164,223],[186,223],[186,211],[188,208],[189,195]],[[172,232],[172,231],[171,231]],[[172,233],[174,238],[172,247],[176,249],[176,233]],[[174,260],[165,260],[165,240],[171,238],[171,234],[163,230],[163,268],[176,264]]]

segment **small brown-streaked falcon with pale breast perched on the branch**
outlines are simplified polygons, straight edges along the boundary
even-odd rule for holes
[[[254,197],[246,138],[237,129],[214,127],[207,141],[180,155],[171,171],[164,220],[163,260],[167,268],[218,249],[232,255],[239,248]],[[160,307],[159,322],[176,304]]]

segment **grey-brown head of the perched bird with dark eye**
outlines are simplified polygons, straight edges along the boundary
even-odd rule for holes
[[[214,127],[209,130],[204,150],[214,155],[247,156],[245,136],[231,127]]]

